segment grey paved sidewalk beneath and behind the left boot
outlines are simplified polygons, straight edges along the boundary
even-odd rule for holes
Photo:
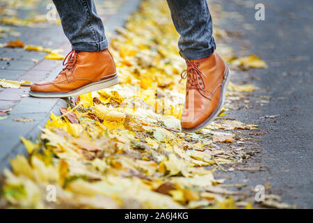
[[[106,34],[113,33],[117,27],[123,26],[131,13],[138,8],[141,0],[129,1],[95,1],[99,6],[99,15],[104,19]],[[45,13],[45,1],[38,8],[39,13]],[[23,12],[20,12],[23,14]],[[3,24],[1,24],[3,26]],[[24,26],[12,27],[21,33],[18,38],[25,45],[42,45],[53,49],[63,49],[63,55],[70,51],[70,43],[63,34],[61,25],[48,25],[45,28]],[[0,43],[15,40],[14,36],[0,38]],[[45,52],[29,52],[22,48],[0,48],[0,58],[10,58],[10,61],[0,60],[0,79],[10,79],[27,82],[40,82],[51,80],[62,70],[62,61],[44,59]],[[34,59],[38,63],[31,61]],[[0,171],[8,167],[8,158],[15,157],[18,153],[26,153],[20,137],[36,139],[49,119],[50,113],[60,114],[61,107],[67,107],[64,99],[38,99],[28,95],[29,87],[21,89],[0,88],[0,111],[12,109],[1,116],[0,121]],[[5,117],[7,115],[7,118]]]

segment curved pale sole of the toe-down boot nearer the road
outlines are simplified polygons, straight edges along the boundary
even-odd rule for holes
[[[209,118],[207,118],[203,123],[201,123],[198,126],[195,126],[194,128],[182,128],[182,130],[184,132],[197,132],[199,130],[201,130],[202,128],[206,127],[207,125],[209,125],[209,123],[211,123],[211,121],[213,121],[214,118],[216,118],[216,116],[218,116],[218,114],[220,114],[220,110],[223,108],[224,102],[225,102],[225,94],[227,91],[227,86],[228,83],[230,82],[230,68],[227,68],[227,77],[226,80],[224,82],[224,84],[222,85],[222,90],[220,91],[220,101],[218,102],[218,107],[216,107],[216,109],[214,110],[214,112],[209,116]]]

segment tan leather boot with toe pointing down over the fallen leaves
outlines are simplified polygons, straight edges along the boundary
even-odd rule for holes
[[[186,102],[182,114],[182,130],[195,132],[204,128],[223,107],[229,72],[223,59],[214,52],[211,56],[186,61]]]

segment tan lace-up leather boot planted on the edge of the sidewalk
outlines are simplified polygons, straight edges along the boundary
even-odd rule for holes
[[[38,98],[63,98],[118,84],[115,64],[108,49],[100,52],[72,50],[65,57],[63,66],[65,68],[52,82],[32,84],[29,95]]]

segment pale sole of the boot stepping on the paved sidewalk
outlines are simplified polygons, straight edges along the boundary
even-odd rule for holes
[[[106,89],[118,83],[119,83],[118,75],[115,73],[114,77],[111,77],[109,79],[104,79],[102,81],[86,84],[84,86],[79,87],[78,89],[74,89],[69,92],[44,93],[44,92],[29,91],[29,95],[35,98],[67,98],[67,97],[72,97],[75,95],[81,95],[83,93],[89,93],[92,91]]]

